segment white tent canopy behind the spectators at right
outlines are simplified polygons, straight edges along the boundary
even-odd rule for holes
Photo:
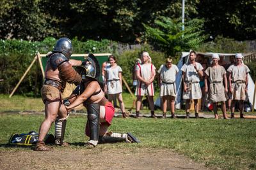
[[[204,57],[211,57],[212,53],[202,53],[202,52],[196,52],[197,54],[204,55]],[[218,53],[221,56],[224,56],[224,60],[226,62],[229,62],[229,56],[235,56],[235,53]],[[188,57],[189,52],[182,52],[182,55],[180,57],[179,63],[177,64],[177,67],[179,68],[179,73],[176,76],[176,89],[177,89],[177,97],[175,101],[175,108],[180,109],[181,107],[181,102],[182,102],[182,71],[180,71],[180,68],[188,62]],[[246,54],[244,54],[246,56]],[[250,103],[253,103],[253,94],[254,94],[254,83],[252,80],[252,77],[250,74],[248,74],[248,99]],[[157,99],[156,103],[159,103],[160,99]],[[157,104],[158,105],[158,104]],[[252,104],[253,105],[253,104]],[[254,108],[256,109],[256,104],[254,104]]]

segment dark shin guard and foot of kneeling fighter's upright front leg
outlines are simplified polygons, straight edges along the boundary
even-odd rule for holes
[[[88,143],[96,146],[99,142],[100,105],[96,103],[87,103],[86,108],[90,130],[90,141],[88,141]]]

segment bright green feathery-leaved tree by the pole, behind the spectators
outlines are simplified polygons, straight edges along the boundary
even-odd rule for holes
[[[150,27],[143,24],[146,29],[146,38],[157,49],[159,48],[168,55],[175,56],[178,52],[196,50],[205,40],[202,28],[202,20],[193,19],[185,24],[182,31],[182,23],[168,17],[159,17]]]

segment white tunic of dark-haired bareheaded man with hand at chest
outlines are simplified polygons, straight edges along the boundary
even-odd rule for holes
[[[203,70],[204,68],[198,62],[196,62],[196,69]],[[185,81],[188,87],[187,92],[183,92],[183,99],[201,99],[202,98],[202,91],[200,88],[200,77],[199,74],[196,72],[195,67],[193,64],[184,64],[181,67],[181,71],[185,73]]]

